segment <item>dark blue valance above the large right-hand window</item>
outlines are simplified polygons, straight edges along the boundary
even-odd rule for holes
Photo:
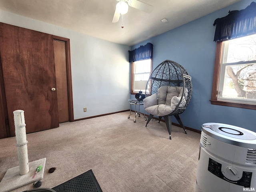
[[[256,34],[256,3],[252,2],[243,10],[229,11],[225,17],[214,21],[214,41],[238,38]]]

